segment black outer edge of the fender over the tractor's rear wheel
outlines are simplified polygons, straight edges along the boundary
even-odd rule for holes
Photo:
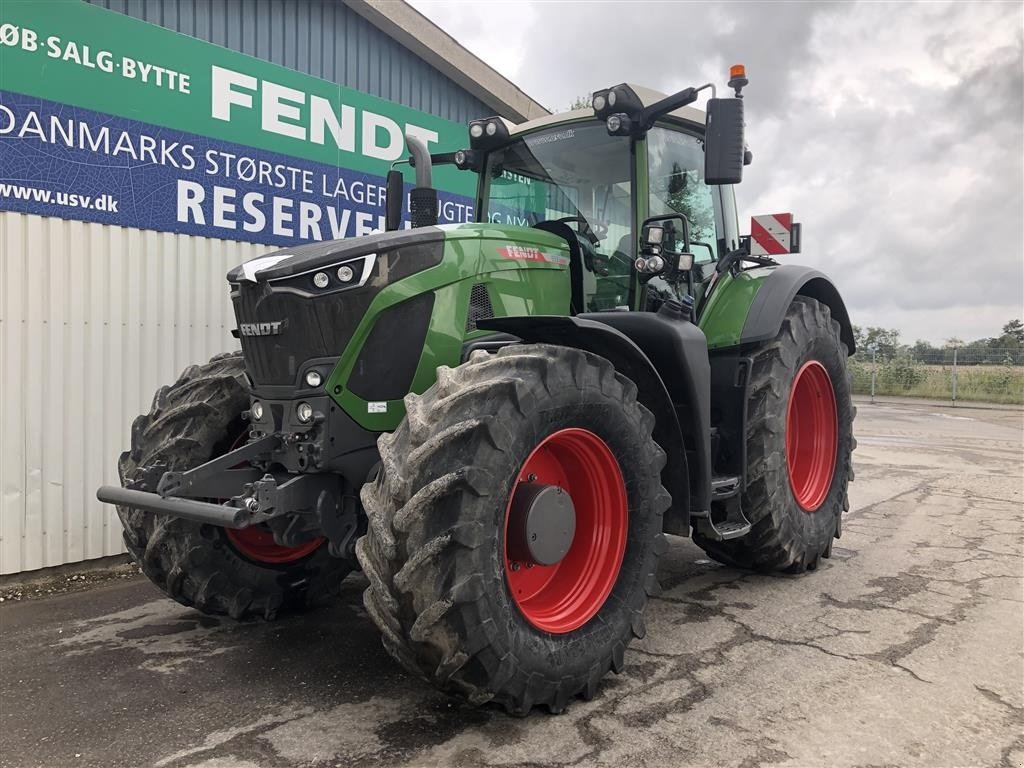
[[[765,280],[746,313],[740,343],[753,344],[774,339],[778,329],[782,327],[782,318],[790,304],[798,294],[817,299],[828,307],[833,318],[839,322],[840,338],[850,354],[853,354],[856,351],[853,326],[850,324],[846,304],[843,303],[836,286],[817,269],[798,264],[783,264],[773,269]]]

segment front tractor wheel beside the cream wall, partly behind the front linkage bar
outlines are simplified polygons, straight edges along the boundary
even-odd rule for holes
[[[122,484],[154,464],[181,471],[230,450],[245,434],[241,417],[249,399],[237,379],[242,372],[240,353],[222,354],[161,387],[150,413],[132,424],[131,450],[118,462]],[[270,620],[337,594],[350,569],[323,541],[282,547],[263,528],[227,531],[130,507],[118,507],[118,515],[142,572],[169,597],[205,613]]]

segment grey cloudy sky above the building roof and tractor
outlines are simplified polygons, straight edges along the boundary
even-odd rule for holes
[[[740,217],[793,211],[788,258],[836,280],[854,323],[941,342],[1024,311],[1020,2],[412,2],[557,112],[746,65]]]

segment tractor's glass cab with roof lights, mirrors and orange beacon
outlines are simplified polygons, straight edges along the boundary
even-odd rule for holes
[[[713,96],[708,113],[686,104],[706,88],[714,94],[710,84],[672,96],[622,84],[595,92],[590,109],[520,125],[473,121],[470,148],[429,159],[479,174],[477,222],[537,227],[570,242],[581,262],[572,314],[656,311],[687,296],[699,312],[716,264],[741,242],[731,185],[751,160],[746,80],[742,68],[731,74],[735,96]],[[418,221],[433,223],[414,211]]]

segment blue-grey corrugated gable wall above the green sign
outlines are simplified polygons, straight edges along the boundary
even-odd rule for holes
[[[457,123],[495,112],[341,0],[86,2]]]

